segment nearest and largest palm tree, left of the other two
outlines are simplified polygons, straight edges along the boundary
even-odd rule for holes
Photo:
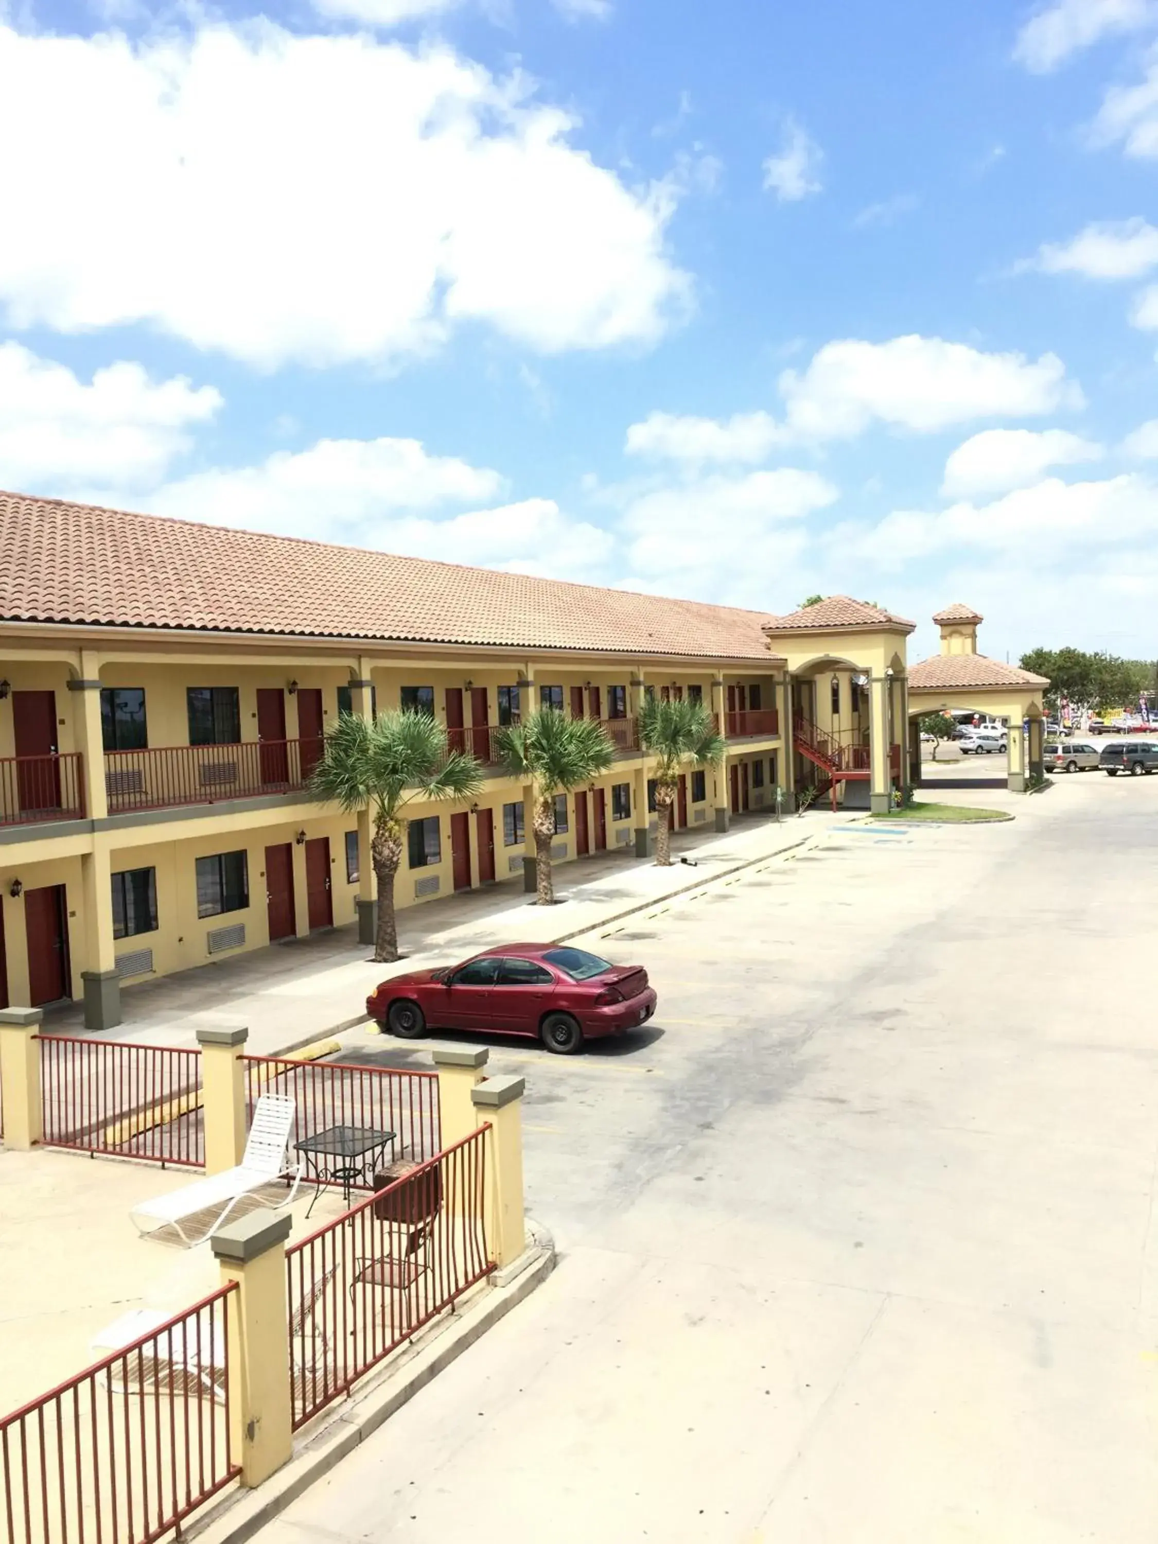
[[[417,800],[474,798],[483,774],[474,757],[446,753],[446,730],[429,713],[380,713],[374,723],[341,713],[309,781],[310,794],[361,811],[374,821],[371,860],[378,883],[375,960],[397,960],[394,875],[406,824],[401,811]]]

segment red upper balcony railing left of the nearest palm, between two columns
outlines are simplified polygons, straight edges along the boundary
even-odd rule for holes
[[[219,804],[229,798],[304,789],[321,740],[245,740],[235,746],[107,750],[110,815],[130,809]]]

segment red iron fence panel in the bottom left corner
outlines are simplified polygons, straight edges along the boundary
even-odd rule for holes
[[[233,1292],[219,1288],[0,1419],[9,1544],[153,1544],[238,1476]]]

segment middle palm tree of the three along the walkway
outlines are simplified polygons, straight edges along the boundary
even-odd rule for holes
[[[551,837],[554,795],[607,772],[615,746],[593,718],[564,718],[553,707],[530,713],[522,724],[496,730],[494,749],[506,777],[530,783],[534,798],[534,879],[540,906],[554,902]]]

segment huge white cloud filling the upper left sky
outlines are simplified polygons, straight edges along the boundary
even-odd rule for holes
[[[0,28],[22,147],[0,300],[14,327],[145,323],[261,367],[397,360],[462,323],[548,354],[653,343],[690,303],[678,188],[630,190],[576,127],[440,45]]]

